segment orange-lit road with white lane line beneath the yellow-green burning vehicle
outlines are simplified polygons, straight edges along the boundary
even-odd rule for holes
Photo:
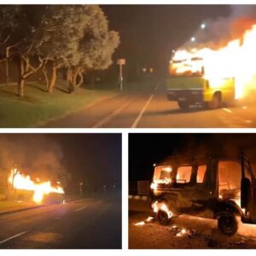
[[[124,92],[66,117],[51,120],[49,128],[253,128],[256,102],[218,109],[191,108],[182,111],[166,99],[164,83],[148,90]]]

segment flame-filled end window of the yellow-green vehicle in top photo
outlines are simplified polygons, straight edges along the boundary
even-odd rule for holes
[[[175,77],[202,76],[204,74],[202,59],[172,60],[170,62],[170,74]]]

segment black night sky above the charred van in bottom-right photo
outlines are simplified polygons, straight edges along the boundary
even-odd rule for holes
[[[241,151],[256,162],[256,134],[130,134],[129,180],[150,180],[154,163],[175,154],[238,157]]]

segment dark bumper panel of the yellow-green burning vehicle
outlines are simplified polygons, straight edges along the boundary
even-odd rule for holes
[[[198,89],[193,90],[167,90],[167,98],[169,101],[188,102],[189,104],[202,104],[203,91]]]

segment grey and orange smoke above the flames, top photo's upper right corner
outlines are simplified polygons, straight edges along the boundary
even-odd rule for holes
[[[241,39],[244,32],[256,24],[255,5],[231,5],[228,17],[218,17],[214,20],[204,20],[205,29],[198,29],[194,36],[196,47],[219,49],[228,42]],[[195,48],[195,43],[190,41],[183,45],[185,49]]]

